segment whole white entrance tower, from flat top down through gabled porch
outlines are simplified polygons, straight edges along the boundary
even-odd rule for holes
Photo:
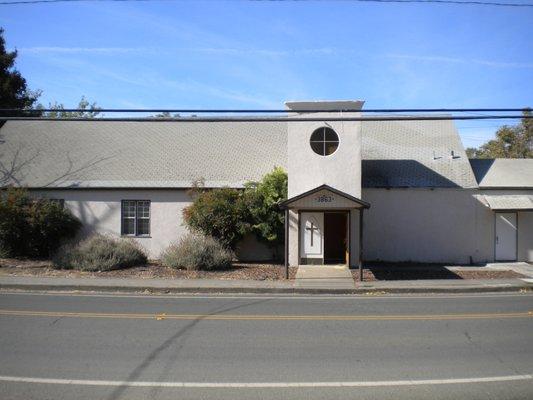
[[[294,119],[287,126],[289,197],[282,203],[286,271],[289,264],[356,262],[362,271],[362,218],[370,204],[361,199],[361,121],[353,119],[363,102],[285,105]]]

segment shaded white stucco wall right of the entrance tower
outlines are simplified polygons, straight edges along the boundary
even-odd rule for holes
[[[465,189],[363,189],[366,260],[494,261],[494,212]],[[490,194],[533,191],[490,191]],[[518,260],[533,258],[533,213],[518,213]]]

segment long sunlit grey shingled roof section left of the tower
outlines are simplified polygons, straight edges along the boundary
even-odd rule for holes
[[[8,121],[0,140],[29,187],[238,187],[287,164],[284,123]]]

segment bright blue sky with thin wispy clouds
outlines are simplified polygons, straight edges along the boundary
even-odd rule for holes
[[[533,8],[81,2],[0,6],[0,25],[44,104],[85,95],[107,108],[533,106]],[[464,144],[499,124],[461,123]]]

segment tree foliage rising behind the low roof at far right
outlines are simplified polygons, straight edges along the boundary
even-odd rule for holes
[[[524,111],[525,117],[531,117],[531,110]],[[489,140],[479,148],[468,148],[469,158],[533,158],[533,119],[522,118],[514,126],[502,126],[496,132],[496,138]]]

